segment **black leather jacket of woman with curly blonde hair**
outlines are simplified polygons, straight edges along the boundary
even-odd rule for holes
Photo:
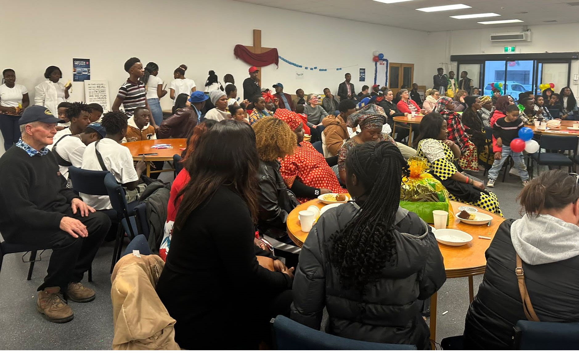
[[[259,161],[259,233],[272,238],[286,234],[288,214],[299,205],[294,193],[288,190],[280,174],[278,161]]]

